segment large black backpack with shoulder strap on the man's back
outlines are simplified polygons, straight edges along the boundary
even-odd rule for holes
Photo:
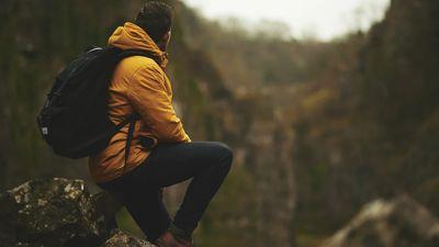
[[[57,155],[77,159],[103,150],[111,137],[130,124],[125,162],[135,122],[132,114],[114,125],[108,115],[109,85],[119,61],[151,54],[116,47],[91,47],[58,74],[37,116],[40,132]]]

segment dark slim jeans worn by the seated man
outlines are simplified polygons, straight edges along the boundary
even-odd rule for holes
[[[173,218],[176,226],[192,233],[227,176],[232,160],[230,148],[222,143],[159,144],[144,164],[98,186],[116,197],[148,240],[155,242],[171,222],[160,188],[192,178]]]

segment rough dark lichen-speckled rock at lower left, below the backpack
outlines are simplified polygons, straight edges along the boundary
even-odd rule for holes
[[[100,246],[115,228],[117,206],[110,204],[82,180],[29,181],[0,194],[0,247]]]

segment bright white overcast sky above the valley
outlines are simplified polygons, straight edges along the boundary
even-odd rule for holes
[[[295,37],[330,40],[367,30],[381,20],[390,0],[183,0],[210,19],[282,21]]]

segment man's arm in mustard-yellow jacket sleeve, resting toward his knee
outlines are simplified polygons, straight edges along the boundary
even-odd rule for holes
[[[166,92],[165,78],[158,66],[138,69],[131,80],[127,97],[159,142],[191,142]]]

